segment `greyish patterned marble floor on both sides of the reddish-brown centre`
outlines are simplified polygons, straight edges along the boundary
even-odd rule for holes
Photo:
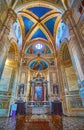
[[[63,130],[84,130],[83,117],[62,117]],[[0,130],[15,130],[16,118],[0,118]]]

